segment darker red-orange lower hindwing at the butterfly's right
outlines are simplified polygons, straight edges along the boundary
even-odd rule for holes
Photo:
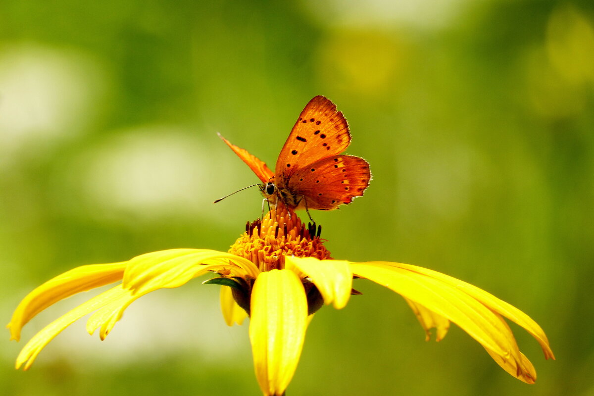
[[[369,163],[364,159],[331,156],[297,170],[287,189],[302,195],[309,209],[332,210],[361,197],[369,179]]]

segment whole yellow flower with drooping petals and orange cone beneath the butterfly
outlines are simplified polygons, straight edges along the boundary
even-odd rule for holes
[[[38,332],[18,355],[17,369],[29,369],[37,354],[59,332],[88,313],[87,331],[99,328],[103,340],[138,297],[192,278],[217,273],[205,283],[220,284],[220,303],[228,325],[249,315],[255,374],[264,395],[282,395],[293,377],[305,339],[308,316],[323,304],[343,308],[353,277],[365,278],[401,294],[421,322],[441,340],[454,322],[486,349],[503,369],[533,384],[536,372],[503,316],[526,329],[554,359],[541,327],[517,308],[472,286],[426,268],[396,262],[334,260],[320,239],[320,228],[305,227],[282,204],[262,221],[248,223],[228,253],[172,249],[115,264],[74,268],[47,281],[18,305],[8,324],[11,339],[33,316],[72,294],[121,281],[72,309]]]

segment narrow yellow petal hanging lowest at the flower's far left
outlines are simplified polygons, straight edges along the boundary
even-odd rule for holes
[[[34,337],[31,338],[31,340],[29,340],[29,342],[23,347],[21,353],[18,354],[16,368],[20,368],[20,366],[25,363],[24,369],[29,369],[39,352],[62,330],[67,328],[78,319],[82,318],[84,315],[87,315],[87,313],[101,308],[109,302],[118,299],[120,296],[122,296],[122,294],[125,293],[127,293],[127,291],[123,290],[119,285],[112,287],[112,289],[109,289],[106,292],[93,297],[89,301],[77,306],[65,315],[62,315],[55,321],[51,322],[36,335],[34,335]]]

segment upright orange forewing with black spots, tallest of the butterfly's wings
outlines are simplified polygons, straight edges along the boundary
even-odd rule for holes
[[[276,161],[276,183],[280,188],[299,169],[342,153],[350,144],[349,125],[336,105],[323,96],[310,100]]]

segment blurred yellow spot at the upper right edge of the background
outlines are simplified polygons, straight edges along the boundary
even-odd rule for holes
[[[594,82],[594,26],[571,5],[552,12],[546,27],[546,52],[570,83]]]

